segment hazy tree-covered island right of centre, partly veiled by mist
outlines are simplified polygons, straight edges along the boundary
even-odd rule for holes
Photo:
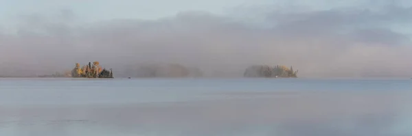
[[[244,77],[266,77],[266,78],[297,78],[297,70],[293,71],[286,66],[255,65],[244,71]]]

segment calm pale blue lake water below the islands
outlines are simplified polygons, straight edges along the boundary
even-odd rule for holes
[[[412,135],[412,79],[0,79],[0,135]]]

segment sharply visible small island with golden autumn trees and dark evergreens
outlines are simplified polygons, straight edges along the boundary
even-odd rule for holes
[[[85,78],[113,78],[112,70],[106,70],[99,65],[99,62],[89,62],[88,65],[80,67],[76,63],[75,68],[71,70],[71,77],[85,77]]]

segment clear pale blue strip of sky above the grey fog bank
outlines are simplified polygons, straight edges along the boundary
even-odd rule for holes
[[[56,14],[59,10],[72,10],[82,21],[100,21],[113,18],[157,19],[174,16],[178,12],[206,11],[225,14],[239,6],[273,4],[269,0],[1,0],[1,16],[5,19],[19,14]]]

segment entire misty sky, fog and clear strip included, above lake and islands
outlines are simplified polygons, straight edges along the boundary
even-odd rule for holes
[[[300,77],[412,76],[411,2],[0,0],[0,75],[100,61],[118,76],[144,63],[238,77],[253,64]]]

